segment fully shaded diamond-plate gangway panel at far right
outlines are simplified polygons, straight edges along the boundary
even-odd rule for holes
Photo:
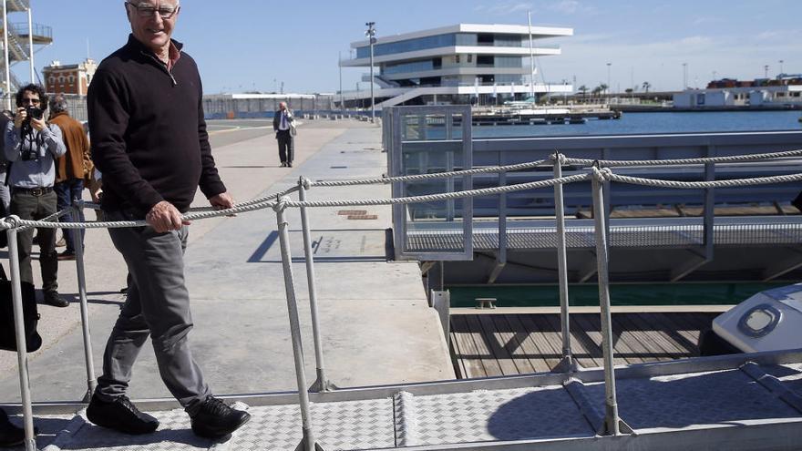
[[[604,384],[585,384],[604,408]],[[740,370],[616,381],[619,413],[634,429],[680,428],[799,413]]]

